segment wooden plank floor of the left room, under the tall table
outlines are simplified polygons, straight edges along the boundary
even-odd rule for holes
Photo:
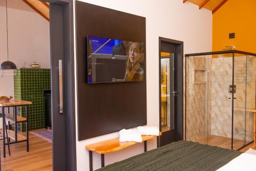
[[[10,145],[11,156],[6,146],[6,158],[3,157],[3,141],[1,144],[1,162],[4,171],[46,171],[52,170],[52,143],[29,133],[30,151],[26,142]]]

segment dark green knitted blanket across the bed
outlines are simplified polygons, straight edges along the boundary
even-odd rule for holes
[[[217,170],[241,152],[190,141],[178,141],[102,167],[109,170]]]

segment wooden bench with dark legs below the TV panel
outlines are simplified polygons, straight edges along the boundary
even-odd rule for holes
[[[159,136],[161,135],[162,133],[159,132]],[[144,152],[146,152],[146,141],[152,138],[157,138],[157,147],[159,147],[159,136],[151,136],[151,135],[142,136],[142,141],[144,142]],[[116,151],[119,151],[120,149],[129,147],[137,143],[138,142],[120,142],[119,138],[114,138],[114,139],[86,145],[86,149],[89,151],[90,171],[93,170],[92,152],[95,152],[101,155],[101,167],[104,167],[105,166],[104,154],[116,152]]]

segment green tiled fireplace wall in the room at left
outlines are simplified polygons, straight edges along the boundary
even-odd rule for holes
[[[51,90],[50,69],[17,69],[14,76],[14,97],[17,100],[31,101],[29,105],[29,130],[45,127],[44,90]],[[25,117],[25,108],[20,109],[20,116]],[[20,124],[20,131],[26,131],[25,123]]]

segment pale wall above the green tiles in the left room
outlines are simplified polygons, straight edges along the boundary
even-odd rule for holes
[[[37,62],[50,68],[49,22],[22,0],[8,0],[9,60],[17,68]],[[0,1],[0,63],[7,60],[6,1]],[[14,96],[13,77],[0,77],[0,95]]]

